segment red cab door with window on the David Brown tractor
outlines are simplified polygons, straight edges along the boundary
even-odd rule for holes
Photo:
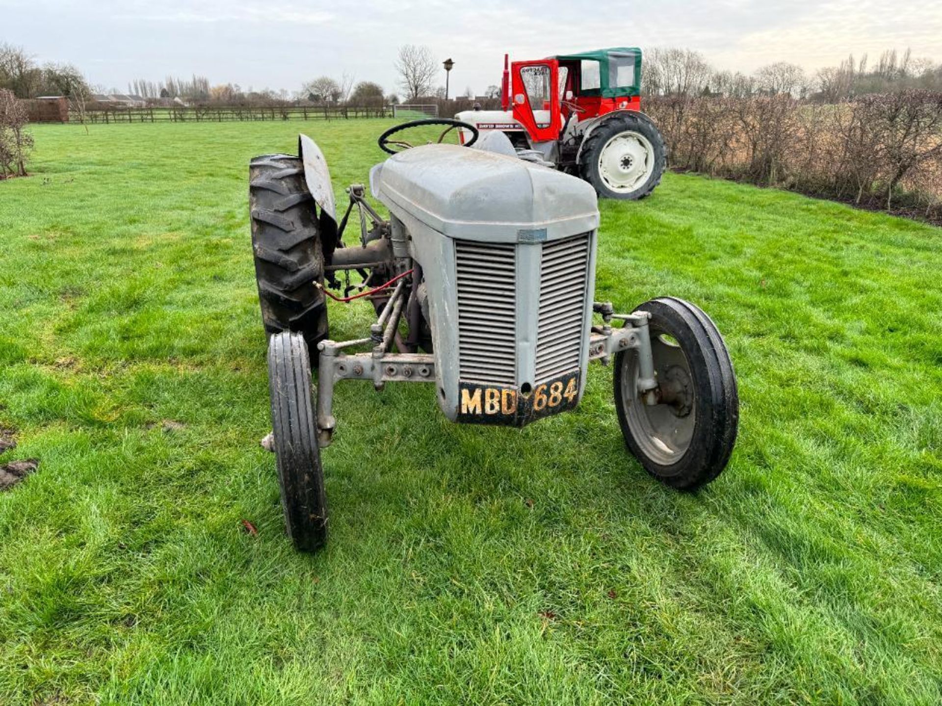
[[[556,59],[511,64],[513,119],[534,142],[560,137],[560,62]]]

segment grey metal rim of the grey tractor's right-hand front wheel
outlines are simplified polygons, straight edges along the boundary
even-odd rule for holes
[[[623,359],[621,394],[631,435],[645,456],[660,466],[671,466],[690,449],[697,421],[696,391],[683,349],[664,331],[650,331],[660,401],[657,405],[642,401],[637,355]]]

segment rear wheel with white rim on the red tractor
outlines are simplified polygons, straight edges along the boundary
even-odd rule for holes
[[[579,153],[579,172],[603,199],[636,201],[660,184],[664,139],[641,113],[615,113],[596,125]]]

